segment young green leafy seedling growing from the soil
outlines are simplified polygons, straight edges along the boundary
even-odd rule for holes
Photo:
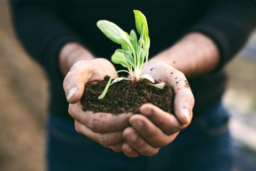
[[[145,15],[138,10],[133,10],[135,15],[135,25],[140,35],[138,40],[134,30],[131,30],[130,35],[119,28],[115,23],[100,20],[97,22],[98,28],[112,41],[120,44],[122,49],[116,49],[111,56],[111,61],[115,64],[121,64],[127,70],[119,70],[110,76],[110,79],[98,99],[105,97],[109,86],[121,80],[129,80],[121,77],[113,80],[113,76],[119,72],[127,72],[131,75],[132,83],[140,79],[147,79],[154,83],[154,79],[148,74],[142,74],[148,62],[148,53],[150,46],[150,39],[148,36],[148,24]]]

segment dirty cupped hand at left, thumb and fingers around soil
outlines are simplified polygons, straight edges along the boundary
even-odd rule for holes
[[[76,131],[102,146],[122,151],[122,131],[127,126],[130,115],[84,112],[79,101],[87,82],[100,81],[106,74],[111,75],[115,71],[113,64],[104,58],[77,61],[67,73],[63,88],[69,102],[69,114],[75,119]]]

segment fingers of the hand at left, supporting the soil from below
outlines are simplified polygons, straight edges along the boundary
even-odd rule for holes
[[[116,152],[122,151],[123,130],[129,125],[131,113],[113,115],[82,110],[80,102],[69,104],[69,114],[75,119],[75,129],[87,138]]]

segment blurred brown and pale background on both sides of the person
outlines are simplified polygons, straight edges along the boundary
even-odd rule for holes
[[[228,64],[234,171],[256,170],[256,33]],[[0,0],[0,171],[45,170],[47,79],[15,38]]]

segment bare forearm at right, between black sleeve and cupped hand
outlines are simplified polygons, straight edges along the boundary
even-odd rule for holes
[[[220,62],[217,45],[202,33],[188,33],[172,47],[157,54],[159,59],[192,78],[213,71]]]

